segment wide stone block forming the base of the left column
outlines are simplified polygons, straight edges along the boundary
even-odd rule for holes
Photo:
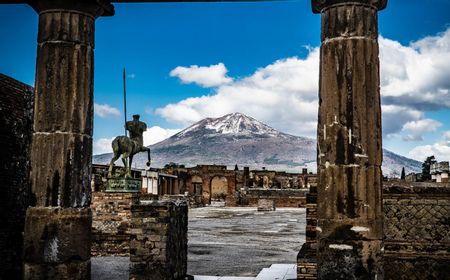
[[[91,223],[89,208],[29,208],[24,279],[89,279]]]

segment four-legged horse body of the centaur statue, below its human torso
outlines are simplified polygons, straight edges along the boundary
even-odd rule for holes
[[[112,148],[114,155],[109,163],[108,177],[112,176],[114,163],[120,156],[122,156],[122,162],[125,168],[125,177],[131,177],[131,164],[133,163],[133,156],[139,152],[147,151],[147,166],[150,166],[150,149],[145,146],[141,146],[137,141],[134,141],[127,136],[117,136],[114,138]],[[129,159],[128,164],[127,159]]]

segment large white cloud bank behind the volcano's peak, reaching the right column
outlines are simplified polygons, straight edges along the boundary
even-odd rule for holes
[[[275,61],[251,76],[221,85],[215,94],[190,97],[156,113],[167,120],[189,125],[205,117],[241,112],[275,128],[314,136],[317,125],[319,49],[308,57]]]

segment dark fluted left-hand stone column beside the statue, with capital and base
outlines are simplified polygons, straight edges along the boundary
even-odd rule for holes
[[[25,279],[89,279],[94,23],[108,1],[30,1],[39,13]]]

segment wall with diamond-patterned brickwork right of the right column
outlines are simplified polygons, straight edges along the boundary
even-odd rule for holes
[[[386,279],[450,279],[450,186],[384,188]]]

